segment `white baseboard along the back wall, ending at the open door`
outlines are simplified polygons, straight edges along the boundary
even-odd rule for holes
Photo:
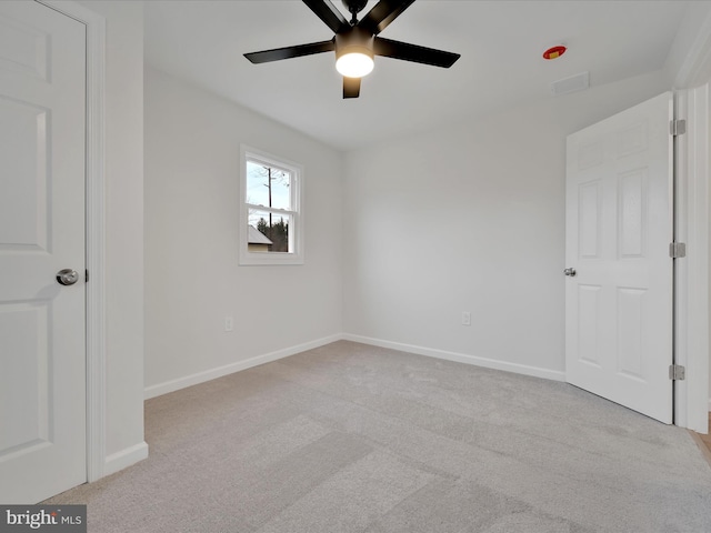
[[[369,336],[353,335],[351,333],[344,333],[342,338],[347,341],[360,342],[362,344],[371,344],[373,346],[380,348],[390,348],[392,350],[399,350],[401,352],[417,353],[418,355],[427,355],[429,358],[473,364],[475,366],[483,366],[485,369],[503,370],[505,372],[532,375],[534,378],[543,378],[545,380],[552,381],[565,381],[565,373],[558,370],[541,369],[539,366],[509,363],[505,361],[497,361],[495,359],[480,358],[477,355],[468,355],[464,353],[448,352],[444,350],[435,350],[432,348],[422,348],[412,344],[403,344],[400,342],[383,341],[381,339],[371,339]]]

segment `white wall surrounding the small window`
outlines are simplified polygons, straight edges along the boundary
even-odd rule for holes
[[[144,94],[147,395],[333,340],[342,155],[149,67]],[[306,264],[238,264],[240,143],[306,167]]]

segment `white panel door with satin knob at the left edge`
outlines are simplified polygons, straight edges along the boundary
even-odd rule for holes
[[[84,26],[0,2],[2,503],[87,481],[84,88]]]

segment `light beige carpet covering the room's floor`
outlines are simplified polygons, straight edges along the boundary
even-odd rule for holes
[[[89,531],[711,532],[689,433],[564,383],[337,342],[150,400]]]

